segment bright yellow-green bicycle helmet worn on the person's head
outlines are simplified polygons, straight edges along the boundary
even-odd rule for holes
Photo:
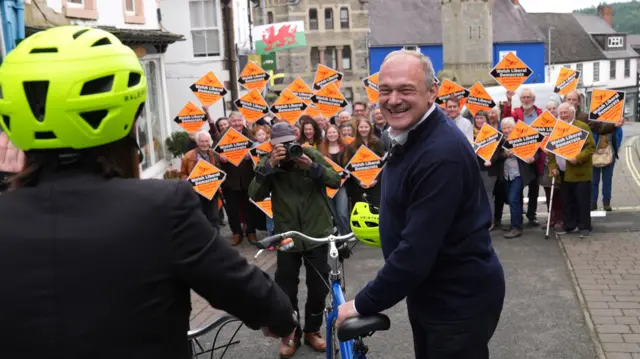
[[[0,66],[0,125],[23,151],[80,150],[120,140],[146,98],[138,56],[96,28],[36,33]]]

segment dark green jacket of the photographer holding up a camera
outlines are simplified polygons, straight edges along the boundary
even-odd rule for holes
[[[326,237],[334,232],[326,188],[340,187],[340,175],[315,148],[303,150],[313,161],[308,171],[298,165],[290,170],[272,168],[269,155],[263,155],[249,185],[249,197],[261,201],[271,196],[275,233],[299,231],[311,237]],[[317,246],[294,239],[291,251],[307,251]]]

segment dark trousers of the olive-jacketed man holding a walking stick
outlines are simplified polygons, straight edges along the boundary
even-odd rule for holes
[[[562,217],[564,229],[591,230],[591,181],[562,182]]]

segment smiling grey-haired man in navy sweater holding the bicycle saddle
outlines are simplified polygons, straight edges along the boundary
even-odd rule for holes
[[[391,127],[383,171],[376,278],[339,308],[345,319],[407,299],[416,359],[485,359],[505,295],[491,245],[491,211],[476,155],[433,102],[431,61],[413,51],[387,56],[379,104]]]

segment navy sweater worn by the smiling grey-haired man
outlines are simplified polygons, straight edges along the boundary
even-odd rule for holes
[[[370,315],[407,298],[410,315],[457,320],[501,307],[504,273],[469,141],[436,108],[398,146],[381,181],[385,265],[356,296],[356,309]]]

